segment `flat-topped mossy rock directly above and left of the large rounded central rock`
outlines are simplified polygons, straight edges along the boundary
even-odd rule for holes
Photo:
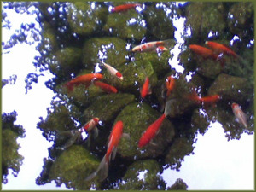
[[[122,108],[134,100],[135,96],[123,93],[99,96],[84,110],[83,117],[88,120],[97,117],[102,121],[109,122],[116,117]]]

